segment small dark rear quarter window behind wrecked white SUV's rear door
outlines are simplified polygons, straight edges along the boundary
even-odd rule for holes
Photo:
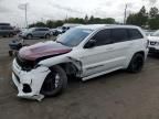
[[[137,40],[144,37],[137,29],[129,29],[129,36],[130,40]]]

